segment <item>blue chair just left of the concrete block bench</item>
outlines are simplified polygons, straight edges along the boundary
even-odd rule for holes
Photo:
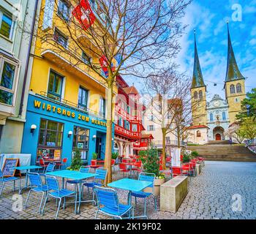
[[[143,198],[144,199],[144,215],[140,216],[141,218],[146,217],[148,219],[148,216],[146,215],[146,199],[150,196],[154,196],[154,180],[156,178],[156,175],[154,173],[140,173],[138,180],[139,181],[150,181],[152,184],[148,186],[148,188],[152,188],[152,192],[131,192],[131,196],[135,197],[135,205],[137,205],[137,198]],[[154,208],[155,211],[157,211],[157,197],[154,196]]]

